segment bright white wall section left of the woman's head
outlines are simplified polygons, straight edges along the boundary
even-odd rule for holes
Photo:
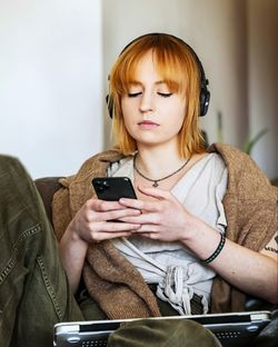
[[[0,152],[33,178],[102,148],[101,0],[0,0]]]

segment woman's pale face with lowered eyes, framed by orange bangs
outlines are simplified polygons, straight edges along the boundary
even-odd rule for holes
[[[147,53],[135,81],[121,99],[125,126],[138,146],[177,145],[186,113],[186,100],[158,75],[153,54]]]

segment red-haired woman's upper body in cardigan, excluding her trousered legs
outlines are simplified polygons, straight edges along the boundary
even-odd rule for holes
[[[90,297],[108,317],[139,315],[132,305],[146,282],[176,314],[198,305],[195,313],[241,310],[242,293],[277,303],[277,189],[239,150],[205,149],[198,123],[203,88],[200,62],[183,41],[162,33],[136,39],[110,73],[118,147],[89,159],[56,197],[71,288],[77,291],[83,269]],[[138,199],[91,198],[91,178],[107,175],[128,176]],[[110,254],[117,278],[101,265]],[[112,288],[100,294],[107,281]],[[127,291],[122,284],[130,305],[110,311],[115,295]],[[156,315],[149,300],[140,304],[142,313]]]

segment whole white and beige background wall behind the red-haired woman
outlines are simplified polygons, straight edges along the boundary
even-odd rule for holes
[[[238,147],[248,128],[254,136],[268,127],[254,158],[276,177],[277,4],[0,0],[0,153],[19,157],[34,178],[76,172],[110,146],[102,88],[112,62],[137,36],[166,31],[196,49],[209,78],[209,141],[218,139],[218,111],[224,140]]]

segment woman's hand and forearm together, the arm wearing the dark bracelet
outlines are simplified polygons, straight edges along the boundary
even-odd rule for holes
[[[139,190],[155,200],[120,199],[121,205],[142,211],[139,216],[121,219],[140,225],[132,234],[140,232],[161,241],[181,241],[199,259],[214,254],[219,245],[219,231],[189,214],[169,191],[158,188]],[[275,260],[226,239],[221,252],[209,266],[241,291],[277,304],[277,258]]]

